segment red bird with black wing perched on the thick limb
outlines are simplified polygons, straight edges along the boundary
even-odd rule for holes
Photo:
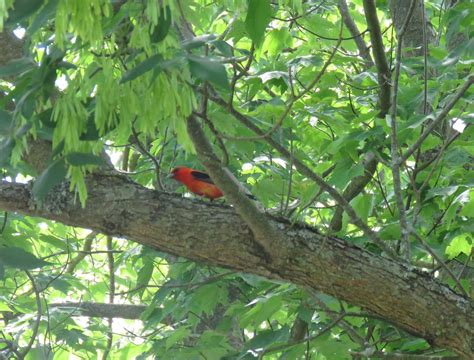
[[[209,175],[198,170],[184,166],[171,170],[170,177],[184,184],[189,191],[199,196],[214,200],[222,197],[224,193],[212,182]]]

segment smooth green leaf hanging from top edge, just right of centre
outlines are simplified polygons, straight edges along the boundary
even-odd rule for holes
[[[265,29],[272,17],[270,0],[250,0],[245,18],[245,30],[255,45],[259,46],[263,40]]]

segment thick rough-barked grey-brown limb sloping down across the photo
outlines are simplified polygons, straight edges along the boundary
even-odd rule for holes
[[[0,208],[121,236],[160,251],[318,289],[474,358],[474,304],[427,274],[316,230],[269,219],[287,239],[266,262],[231,207],[143,188],[123,176],[88,179],[81,209],[58,188],[36,208],[27,185],[0,183]],[[52,210],[45,210],[52,209]],[[269,239],[271,240],[271,239]],[[278,264],[278,265],[276,265]]]

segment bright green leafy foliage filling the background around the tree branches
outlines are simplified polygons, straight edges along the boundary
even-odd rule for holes
[[[194,111],[204,118],[216,153],[266,208],[322,232],[333,232],[337,204],[296,171],[292,159],[345,193],[366,174],[364,161],[371,154],[376,169],[350,204],[384,243],[398,248],[402,231],[392,180],[391,123],[377,117],[377,69],[359,56],[346,28],[325,73],[308,88],[339,39],[336,3],[0,0],[0,29],[20,28],[26,34],[24,57],[0,66],[4,179],[34,178],[32,193],[40,200],[67,179],[85,206],[84,179],[107,154],[135,182],[176,190],[166,172],[176,165],[202,169],[186,132]],[[422,55],[403,58],[396,104],[400,153],[453,99],[472,66],[474,46],[466,45],[473,43],[469,5],[425,4],[441,36],[429,48],[429,79],[424,79]],[[397,40],[389,30],[390,12],[385,2],[378,6],[388,30],[385,54],[392,59],[391,44]],[[364,31],[362,2],[351,2],[350,13]],[[368,44],[368,35],[361,38]],[[422,114],[425,96],[430,110]],[[473,286],[472,101],[468,90],[401,174],[410,226],[431,249],[411,236],[409,260],[467,293]],[[255,138],[231,110],[288,149],[290,159],[264,136]],[[28,161],[33,140],[48,141],[53,149],[41,170]],[[381,252],[346,215],[341,223],[338,236]],[[349,359],[350,351],[435,351],[361,309],[291,284],[196,264],[122,239],[108,248],[112,241],[100,234],[40,218],[4,213],[0,225],[2,343],[27,349],[37,326],[41,335],[29,349],[31,359],[107,353],[137,359]],[[74,307],[57,304],[107,302],[111,292],[116,303],[147,305],[141,321],[138,316],[115,319],[112,346],[104,318],[83,321],[74,316]],[[43,316],[35,324],[38,311]],[[342,312],[349,315],[335,321]],[[297,319],[306,327],[295,340]],[[2,345],[2,352],[13,350]]]

